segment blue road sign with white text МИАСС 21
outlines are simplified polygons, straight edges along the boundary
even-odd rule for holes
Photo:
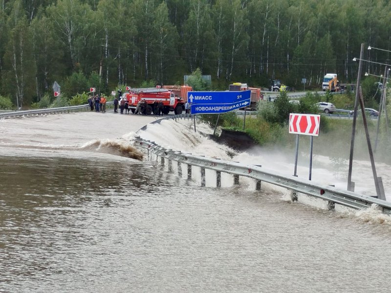
[[[226,113],[250,105],[250,90],[223,92],[188,92],[192,114]]]

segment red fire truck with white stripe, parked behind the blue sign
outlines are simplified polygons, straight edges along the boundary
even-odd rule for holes
[[[183,99],[164,88],[132,88],[129,93],[123,94],[123,98],[128,100],[129,108],[134,113],[137,103],[141,100],[147,102],[146,114],[153,114],[153,102],[163,102],[163,114],[174,111],[175,114],[182,114],[185,102]]]

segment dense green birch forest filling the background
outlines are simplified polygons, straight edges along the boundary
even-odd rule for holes
[[[270,79],[319,88],[323,76],[382,74],[390,59],[386,0],[0,0],[0,98],[28,107],[61,85],[183,84],[199,68],[212,88]],[[382,69],[383,68],[383,69]]]

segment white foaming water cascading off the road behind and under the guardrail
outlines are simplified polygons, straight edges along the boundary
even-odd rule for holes
[[[160,124],[148,125],[145,130],[138,131],[138,135],[145,140],[155,142],[157,145],[183,153],[220,158],[225,161],[240,162],[244,165],[261,165],[262,168],[277,171],[285,176],[293,175],[295,157],[293,151],[289,153],[286,150],[271,150],[270,148],[257,146],[244,152],[237,152],[229,146],[217,144],[210,139],[209,134],[212,134],[214,129],[207,124],[198,122],[196,131],[194,131],[193,123],[192,120],[179,120],[179,122],[163,120]],[[311,180],[318,184],[333,185],[336,188],[346,190],[347,164],[345,162],[341,166],[335,166],[329,157],[314,154]],[[353,165],[352,181],[356,183],[355,191],[364,195],[376,195],[370,162],[355,160]],[[382,176],[383,179],[386,198],[388,201],[391,201],[391,166],[382,163],[376,164],[376,166],[377,176]],[[187,172],[183,170],[182,172],[182,177],[184,177],[184,174],[187,174]],[[297,175],[303,179],[308,179],[309,177],[309,159],[305,155],[300,157]],[[225,176],[222,173],[221,186],[232,186],[232,177],[232,175]],[[193,170],[193,179],[196,182],[200,182],[199,171]],[[210,181],[207,179],[208,185],[209,182],[214,180],[213,178]],[[246,184],[249,189],[255,186],[255,181],[250,178],[240,177],[240,182]],[[284,188],[262,182],[262,190],[264,188],[272,188],[273,190],[284,192]],[[324,201],[321,201],[319,205],[324,206]]]

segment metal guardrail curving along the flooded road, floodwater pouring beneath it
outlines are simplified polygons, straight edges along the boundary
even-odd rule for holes
[[[183,116],[183,114],[174,115],[173,117],[166,117],[165,119],[191,118],[191,115],[186,115],[187,116]],[[160,121],[161,120],[158,120],[153,123],[160,123]],[[136,137],[135,141],[137,145],[148,150],[149,158],[149,152],[152,152],[157,157],[161,157],[163,160],[167,159],[169,162],[169,166],[171,166],[172,161],[176,161],[178,162],[178,168],[179,163],[187,164],[188,166],[190,165],[200,167],[201,185],[203,181],[203,186],[205,182],[205,169],[212,169],[217,172],[217,186],[219,186],[218,178],[221,178],[221,172],[225,172],[234,175],[234,177],[245,176],[252,178],[257,181],[257,186],[259,187],[261,187],[261,182],[263,181],[276,186],[287,188],[289,190],[293,190],[294,192],[300,192],[309,196],[314,196],[326,200],[328,202],[329,209],[333,209],[335,204],[340,204],[353,209],[365,209],[375,204],[380,209],[382,209],[383,213],[391,215],[391,203],[379,200],[377,198],[347,190],[340,190],[332,186],[319,185],[312,181],[299,179],[294,176],[285,176],[275,171],[262,168],[260,166],[243,165],[237,162],[211,159],[206,158],[204,156],[195,156],[172,149],[166,149],[162,146],[155,144],[154,142],[143,140],[141,137]],[[169,167],[169,170],[170,169],[171,168]],[[182,173],[181,170],[180,173]]]

